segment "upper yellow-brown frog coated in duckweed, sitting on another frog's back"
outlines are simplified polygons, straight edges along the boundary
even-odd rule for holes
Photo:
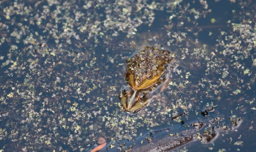
[[[175,53],[154,47],[142,47],[138,54],[129,57],[125,73],[128,84],[134,90],[147,89],[161,76],[177,67]]]

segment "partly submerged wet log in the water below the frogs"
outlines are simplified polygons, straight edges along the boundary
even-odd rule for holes
[[[208,110],[208,109],[207,109]],[[203,110],[204,113],[207,110]],[[207,111],[207,112],[212,112]],[[199,141],[202,144],[212,143],[221,132],[234,131],[242,123],[242,119],[235,115],[229,122],[223,123],[224,117],[211,116],[203,121],[192,122],[187,125],[176,125],[161,130],[152,130],[148,134],[133,139],[121,141],[107,146],[107,152],[171,152],[191,142]],[[203,115],[204,117],[205,115]]]

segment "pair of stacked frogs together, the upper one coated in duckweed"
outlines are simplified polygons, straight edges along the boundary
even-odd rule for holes
[[[175,60],[175,53],[146,46],[128,58],[127,63],[127,86],[121,91],[119,99],[124,110],[133,114],[149,105],[152,94],[169,79],[178,61]]]

